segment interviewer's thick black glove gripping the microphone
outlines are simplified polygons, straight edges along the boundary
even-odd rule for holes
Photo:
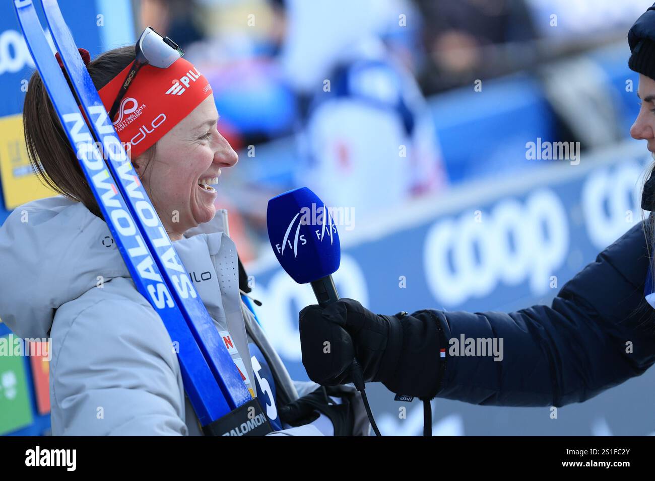
[[[432,310],[377,315],[343,298],[299,315],[303,365],[323,385],[352,382],[357,359],[365,382],[382,382],[397,394],[432,399],[441,378],[441,324]]]

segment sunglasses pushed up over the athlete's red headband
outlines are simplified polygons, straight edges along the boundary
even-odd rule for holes
[[[132,63],[132,68],[125,77],[121,90],[119,90],[116,99],[111,105],[109,111],[109,118],[113,120],[119,111],[121,100],[127,93],[127,89],[140,71],[143,65],[152,65],[160,69],[166,69],[173,65],[173,63],[184,55],[184,51],[179,48],[179,45],[168,37],[162,37],[153,29],[153,27],[146,27],[141,33],[139,40],[136,43],[136,58]]]

